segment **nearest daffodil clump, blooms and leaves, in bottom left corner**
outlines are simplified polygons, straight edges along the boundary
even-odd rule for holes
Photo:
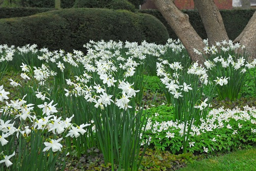
[[[0,163],[4,162],[6,167],[11,167],[12,170],[54,169],[52,164],[56,163],[59,156],[67,154],[67,148],[71,148],[62,145],[63,138],[71,142],[71,139],[84,135],[86,127],[90,124],[75,124],[72,122],[74,115],[65,119],[58,116],[55,107],[57,103],[53,104],[53,100],[34,106],[24,100],[26,96],[8,102],[8,94],[9,92],[0,86],[0,101],[6,103],[0,109]],[[35,113],[34,107],[42,109],[41,116]],[[13,153],[8,155],[11,151]],[[12,165],[10,158],[15,156],[15,151],[17,155],[13,158]],[[1,169],[6,168],[1,166]]]

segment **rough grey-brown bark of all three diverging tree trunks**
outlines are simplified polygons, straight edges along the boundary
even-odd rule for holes
[[[197,55],[193,49],[203,51],[204,44],[202,39],[189,23],[189,17],[182,13],[174,4],[174,0],[153,0],[162,16],[172,27],[173,31],[179,37],[185,48],[189,52],[193,61],[199,61],[202,64],[204,60],[202,55]],[[207,31],[210,44],[215,41],[228,40],[222,17],[213,0],[194,0],[203,24]],[[215,23],[212,24],[211,22]],[[216,26],[217,25],[217,26]],[[234,43],[244,45],[245,52],[250,54],[250,59],[256,59],[256,12],[248,22],[242,33],[234,40]],[[240,51],[241,52],[241,51]]]

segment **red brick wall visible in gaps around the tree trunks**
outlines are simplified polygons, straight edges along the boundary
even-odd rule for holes
[[[214,0],[219,9],[232,9],[232,0]],[[179,9],[194,9],[193,0],[174,0]],[[157,9],[151,0],[146,0],[141,9]]]

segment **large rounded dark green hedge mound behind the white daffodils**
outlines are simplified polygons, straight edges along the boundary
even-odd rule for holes
[[[71,8],[29,17],[0,19],[0,45],[37,44],[51,50],[83,50],[90,40],[166,43],[164,25],[148,14],[127,10]]]

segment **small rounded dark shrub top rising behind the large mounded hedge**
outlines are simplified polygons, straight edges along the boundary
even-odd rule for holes
[[[76,0],[74,8],[110,8],[135,11],[135,6],[128,0]]]

